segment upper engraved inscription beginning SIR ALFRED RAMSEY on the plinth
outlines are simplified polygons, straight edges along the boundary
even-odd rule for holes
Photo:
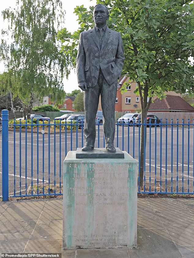
[[[78,168],[78,165],[76,163],[70,163],[69,167]],[[81,163],[78,168],[80,169],[80,173],[74,173],[70,177],[70,180],[74,184],[69,189],[70,195],[76,197],[76,205],[78,206],[125,205],[125,198],[129,197],[128,183],[130,179],[126,176],[127,173],[118,173],[118,170],[125,169],[126,171],[129,167],[130,164],[127,163]],[[108,173],[106,173],[108,171],[107,169],[109,169]],[[117,173],[114,173],[114,169]]]

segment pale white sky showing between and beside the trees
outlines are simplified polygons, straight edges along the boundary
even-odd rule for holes
[[[62,0],[62,4],[63,4],[63,9],[65,9],[65,11],[66,11],[65,27],[67,28],[67,30],[69,32],[74,32],[79,28],[78,21],[76,21],[77,16],[75,15],[75,13],[73,13],[74,8],[76,6],[84,5],[84,7],[88,9],[89,6],[96,5],[96,0],[92,0],[92,1],[90,1],[90,0],[71,0],[71,1]],[[8,7],[11,7],[11,9],[14,9],[15,6],[16,6],[16,0],[6,0],[6,1],[1,0],[0,13],[2,13],[2,11]],[[0,29],[3,28],[3,25],[4,25],[3,19],[2,19],[2,15],[1,15],[0,16]],[[2,73],[3,71],[4,71],[4,65],[1,62],[0,63],[0,73]],[[76,73],[74,70],[72,70],[71,73],[69,74],[68,80],[66,80],[66,78],[63,79],[63,84],[64,84],[64,90],[66,93],[71,93],[74,89],[79,89]]]

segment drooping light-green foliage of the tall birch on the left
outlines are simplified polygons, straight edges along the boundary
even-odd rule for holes
[[[64,22],[61,0],[17,0],[17,8],[2,12],[9,21],[13,43],[12,70],[19,78],[17,92],[30,117],[34,94],[51,93],[60,102],[65,97],[62,78],[68,70],[68,56],[60,53],[56,29]],[[24,114],[25,115],[25,114]]]

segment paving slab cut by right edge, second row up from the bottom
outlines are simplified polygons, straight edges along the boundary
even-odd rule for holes
[[[165,229],[177,247],[194,247],[194,224],[191,227],[165,227]]]

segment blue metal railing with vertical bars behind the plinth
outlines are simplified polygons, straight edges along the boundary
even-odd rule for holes
[[[61,195],[62,165],[69,150],[84,144],[82,123],[67,121],[14,120],[2,112],[2,197]],[[143,185],[139,193],[194,193],[194,121],[179,123],[161,120],[160,124],[115,124],[114,145],[128,152],[140,163],[140,130],[144,130]],[[103,127],[96,124],[95,148],[105,146]],[[8,172],[9,157],[9,172]],[[140,166],[139,170],[140,172]],[[9,173],[9,183],[8,183]],[[9,194],[8,194],[9,192]]]

